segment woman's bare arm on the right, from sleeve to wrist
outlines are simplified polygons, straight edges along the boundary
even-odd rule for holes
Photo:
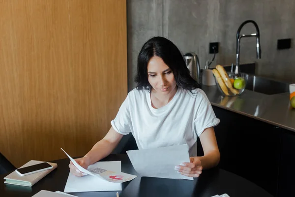
[[[215,167],[220,161],[220,153],[214,128],[205,129],[200,135],[200,141],[204,150],[204,156],[197,158],[201,161],[203,169]]]

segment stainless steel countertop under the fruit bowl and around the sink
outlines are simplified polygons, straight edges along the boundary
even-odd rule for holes
[[[202,89],[213,106],[295,131],[295,109],[291,109],[289,93],[265,95],[244,90],[240,96],[225,97],[217,86],[202,85]]]

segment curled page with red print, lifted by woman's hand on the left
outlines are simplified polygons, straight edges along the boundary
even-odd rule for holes
[[[114,183],[123,183],[126,181],[131,181],[132,179],[134,179],[135,177],[137,177],[136,175],[132,175],[132,174],[127,174],[124,172],[116,172],[116,171],[111,171],[108,169],[104,169],[104,168],[99,168],[96,167],[94,169],[84,169],[83,167],[81,167],[75,160],[73,160],[73,158],[71,158],[62,148],[60,148],[67,156],[68,158],[72,161],[72,163],[82,172],[87,173],[91,176],[94,176],[96,178],[100,178],[109,182],[114,182]]]

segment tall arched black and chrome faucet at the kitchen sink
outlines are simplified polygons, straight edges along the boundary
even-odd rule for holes
[[[243,26],[247,23],[253,23],[253,25],[256,28],[256,33],[251,33],[251,34],[242,34],[240,35],[240,31],[243,28]],[[240,48],[240,39],[242,37],[256,37],[256,58],[257,59],[261,59],[261,48],[260,48],[260,33],[259,33],[259,28],[258,25],[255,21],[253,20],[247,20],[244,21],[238,28],[237,32],[236,32],[236,69],[235,69],[235,74],[239,73],[239,48]]]

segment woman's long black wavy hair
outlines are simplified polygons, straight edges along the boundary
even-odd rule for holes
[[[190,75],[181,52],[177,46],[167,38],[156,36],[150,38],[142,47],[137,60],[137,74],[135,82],[137,90],[151,90],[148,82],[148,62],[153,56],[160,57],[174,74],[178,87],[189,90],[200,88],[200,84]]]

